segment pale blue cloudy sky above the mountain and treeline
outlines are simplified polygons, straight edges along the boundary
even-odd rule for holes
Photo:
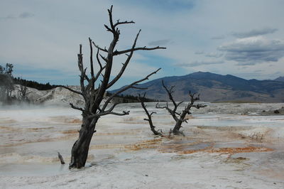
[[[141,29],[139,46],[166,50],[137,52],[114,87],[162,70],[152,79],[192,72],[246,79],[284,76],[283,0],[1,0],[0,64],[14,75],[38,82],[78,85],[77,52],[88,38],[108,46],[107,9],[121,26],[118,48],[129,48]],[[114,76],[126,57],[115,59]]]

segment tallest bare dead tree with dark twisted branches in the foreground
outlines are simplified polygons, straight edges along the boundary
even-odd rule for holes
[[[129,114],[129,112],[114,112],[114,107],[116,107],[116,104],[111,104],[111,99],[113,99],[116,95],[118,95],[121,92],[124,92],[125,90],[128,90],[131,87],[135,87],[140,82],[143,82],[144,80],[148,80],[148,77],[158,72],[158,70],[155,70],[154,72],[151,72],[149,75],[144,77],[141,80],[138,80],[136,82],[132,82],[130,85],[126,85],[125,87],[122,87],[119,91],[112,94],[110,97],[105,99],[104,94],[105,92],[114,85],[119,78],[121,78],[121,75],[124,74],[124,71],[126,70],[127,65],[129,65],[129,62],[132,58],[132,55],[134,51],[136,50],[155,50],[155,49],[165,49],[163,47],[154,47],[154,48],[147,48],[144,47],[136,47],[136,41],[138,39],[138,36],[141,32],[138,31],[136,38],[133,41],[133,45],[131,48],[126,50],[117,50],[116,44],[119,41],[120,31],[118,26],[134,23],[133,21],[119,21],[116,22],[113,21],[112,18],[112,6],[111,9],[108,9],[109,12],[109,26],[104,25],[105,28],[107,28],[107,31],[109,31],[112,34],[112,40],[109,44],[109,48],[101,48],[99,45],[94,43],[89,38],[89,49],[90,49],[90,75],[86,74],[87,68],[83,65],[83,55],[82,55],[82,45],[80,45],[80,51],[78,54],[78,68],[80,70],[80,91],[73,90],[70,87],[65,87],[67,90],[70,90],[72,92],[75,92],[79,95],[82,95],[84,98],[84,108],[77,107],[75,104],[70,104],[73,109],[80,110],[82,112],[82,126],[79,131],[79,138],[77,141],[75,141],[75,144],[72,146],[71,151],[71,162],[69,165],[69,168],[82,168],[84,167],[88,151],[89,151],[89,144],[91,142],[92,136],[94,132],[96,132],[96,124],[100,117],[114,114],[118,116],[123,116],[126,114]],[[99,65],[98,71],[95,73],[94,71],[94,61],[93,61],[93,45],[94,48],[97,48],[97,54],[96,59],[97,63]],[[106,55],[104,55],[106,54]],[[121,70],[119,73],[111,80],[111,69],[114,61],[114,57],[117,55],[126,55],[126,60],[122,64]],[[136,87],[137,88],[137,87]]]

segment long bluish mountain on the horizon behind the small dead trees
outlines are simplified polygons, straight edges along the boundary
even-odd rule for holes
[[[284,82],[245,80],[234,75],[218,75],[211,72],[163,77],[138,85],[148,88],[147,90],[131,88],[123,95],[146,92],[148,98],[168,100],[162,87],[162,80],[168,87],[175,86],[173,96],[178,101],[188,101],[188,92],[191,91],[200,93],[200,99],[206,102],[284,102]]]

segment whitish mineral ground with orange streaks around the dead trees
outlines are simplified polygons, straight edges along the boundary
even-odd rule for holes
[[[139,104],[121,105],[131,114],[99,121],[92,166],[79,171],[61,166],[57,151],[70,160],[80,112],[0,109],[0,188],[284,188],[284,116],[258,115],[283,104],[208,105],[193,112],[185,137],[170,139],[151,134]],[[154,122],[165,133],[173,126],[164,112]]]

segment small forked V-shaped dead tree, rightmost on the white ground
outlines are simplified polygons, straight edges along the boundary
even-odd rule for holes
[[[173,103],[173,109],[171,109],[168,106],[168,102],[166,102],[165,107],[160,107],[158,103],[156,104],[155,107],[158,108],[158,109],[166,109],[166,110],[168,110],[170,115],[175,120],[175,126],[174,126],[174,128],[173,128],[173,130],[171,132],[173,132],[173,134],[182,134],[182,132],[180,132],[180,128],[182,127],[182,123],[183,122],[187,123],[188,119],[186,118],[186,115],[187,114],[191,114],[190,109],[192,107],[200,109],[201,107],[206,107],[207,105],[204,105],[204,104],[194,104],[195,101],[200,99],[200,95],[197,95],[197,97],[195,97],[195,95],[196,95],[195,93],[192,94],[191,92],[189,92],[190,102],[188,102],[188,104],[186,105],[185,109],[182,110],[182,112],[177,112],[178,111],[178,107],[183,102],[178,102],[177,103],[173,99],[173,92],[174,92],[173,89],[174,89],[175,86],[172,86],[172,87],[170,87],[170,89],[168,89],[168,87],[165,86],[165,83],[164,83],[163,80],[162,80],[162,85],[163,85],[163,88],[165,89],[165,91],[167,92],[170,101]]]

